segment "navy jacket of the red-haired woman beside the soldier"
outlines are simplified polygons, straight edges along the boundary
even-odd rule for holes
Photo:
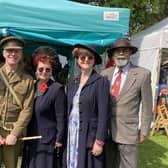
[[[67,107],[64,87],[52,80],[47,84],[44,94],[35,98],[28,136],[41,135],[41,143],[62,143],[65,141]]]

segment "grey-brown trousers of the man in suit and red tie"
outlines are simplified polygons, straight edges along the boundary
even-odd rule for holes
[[[106,146],[106,168],[137,168],[138,144],[111,141]]]

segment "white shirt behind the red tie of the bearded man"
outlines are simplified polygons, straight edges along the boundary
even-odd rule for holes
[[[125,83],[125,80],[126,80],[126,77],[127,77],[127,74],[128,74],[129,67],[130,67],[130,64],[127,64],[125,67],[122,68],[121,85],[120,85],[119,93],[121,92],[121,89],[124,86],[124,83]],[[119,68],[116,66],[115,69],[114,69],[114,73],[113,73],[112,79],[111,79],[111,87],[113,86],[114,81],[115,81],[116,77],[118,76],[118,72],[119,72]]]

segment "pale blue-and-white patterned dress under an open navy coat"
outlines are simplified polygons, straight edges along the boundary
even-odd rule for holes
[[[78,140],[79,140],[79,96],[82,87],[79,86],[74,98],[73,107],[69,116],[67,167],[77,168]]]

